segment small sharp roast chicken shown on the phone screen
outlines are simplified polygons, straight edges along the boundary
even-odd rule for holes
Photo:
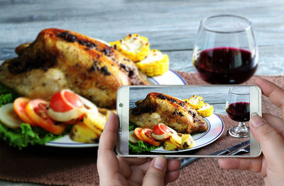
[[[163,123],[179,133],[207,131],[207,124],[195,109],[180,99],[151,92],[129,111],[129,121],[142,128]]]

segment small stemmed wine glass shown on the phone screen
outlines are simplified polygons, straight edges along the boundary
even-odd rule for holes
[[[229,134],[236,138],[250,136],[245,122],[250,119],[249,87],[231,87],[226,99],[226,113],[229,118],[239,121],[239,125],[229,129]]]

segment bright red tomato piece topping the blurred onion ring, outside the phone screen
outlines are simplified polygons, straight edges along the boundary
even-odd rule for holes
[[[70,111],[75,107],[83,106],[82,100],[74,92],[62,89],[60,92],[53,94],[50,99],[50,108],[54,111]]]

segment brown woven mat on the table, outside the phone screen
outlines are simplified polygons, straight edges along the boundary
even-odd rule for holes
[[[195,74],[178,72],[187,84],[206,84]],[[284,88],[284,77],[263,76]],[[253,78],[247,82],[253,84]],[[280,111],[263,100],[263,111],[279,115]],[[226,119],[223,118],[222,119]],[[226,130],[226,128],[225,128]],[[97,148],[52,148],[34,146],[18,151],[0,141],[0,179],[35,182],[45,185],[99,185]],[[181,170],[180,177],[169,185],[263,185],[257,173],[222,170],[217,158],[201,158]]]

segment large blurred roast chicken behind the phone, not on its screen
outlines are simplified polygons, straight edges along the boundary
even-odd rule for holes
[[[72,31],[45,29],[16,53],[1,65],[0,82],[26,97],[50,99],[60,89],[71,89],[114,109],[121,85],[149,84],[131,60],[107,43]]]

